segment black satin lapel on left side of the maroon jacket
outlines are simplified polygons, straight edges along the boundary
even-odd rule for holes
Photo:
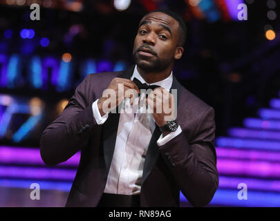
[[[133,74],[134,66],[131,66],[127,70],[124,70],[119,77],[129,79]],[[115,150],[115,140],[117,139],[118,125],[120,119],[120,113],[118,107],[113,113],[109,113],[109,117],[106,122],[102,125],[102,136],[103,136],[103,150],[104,159],[106,164],[106,174],[109,173],[113,153]]]

